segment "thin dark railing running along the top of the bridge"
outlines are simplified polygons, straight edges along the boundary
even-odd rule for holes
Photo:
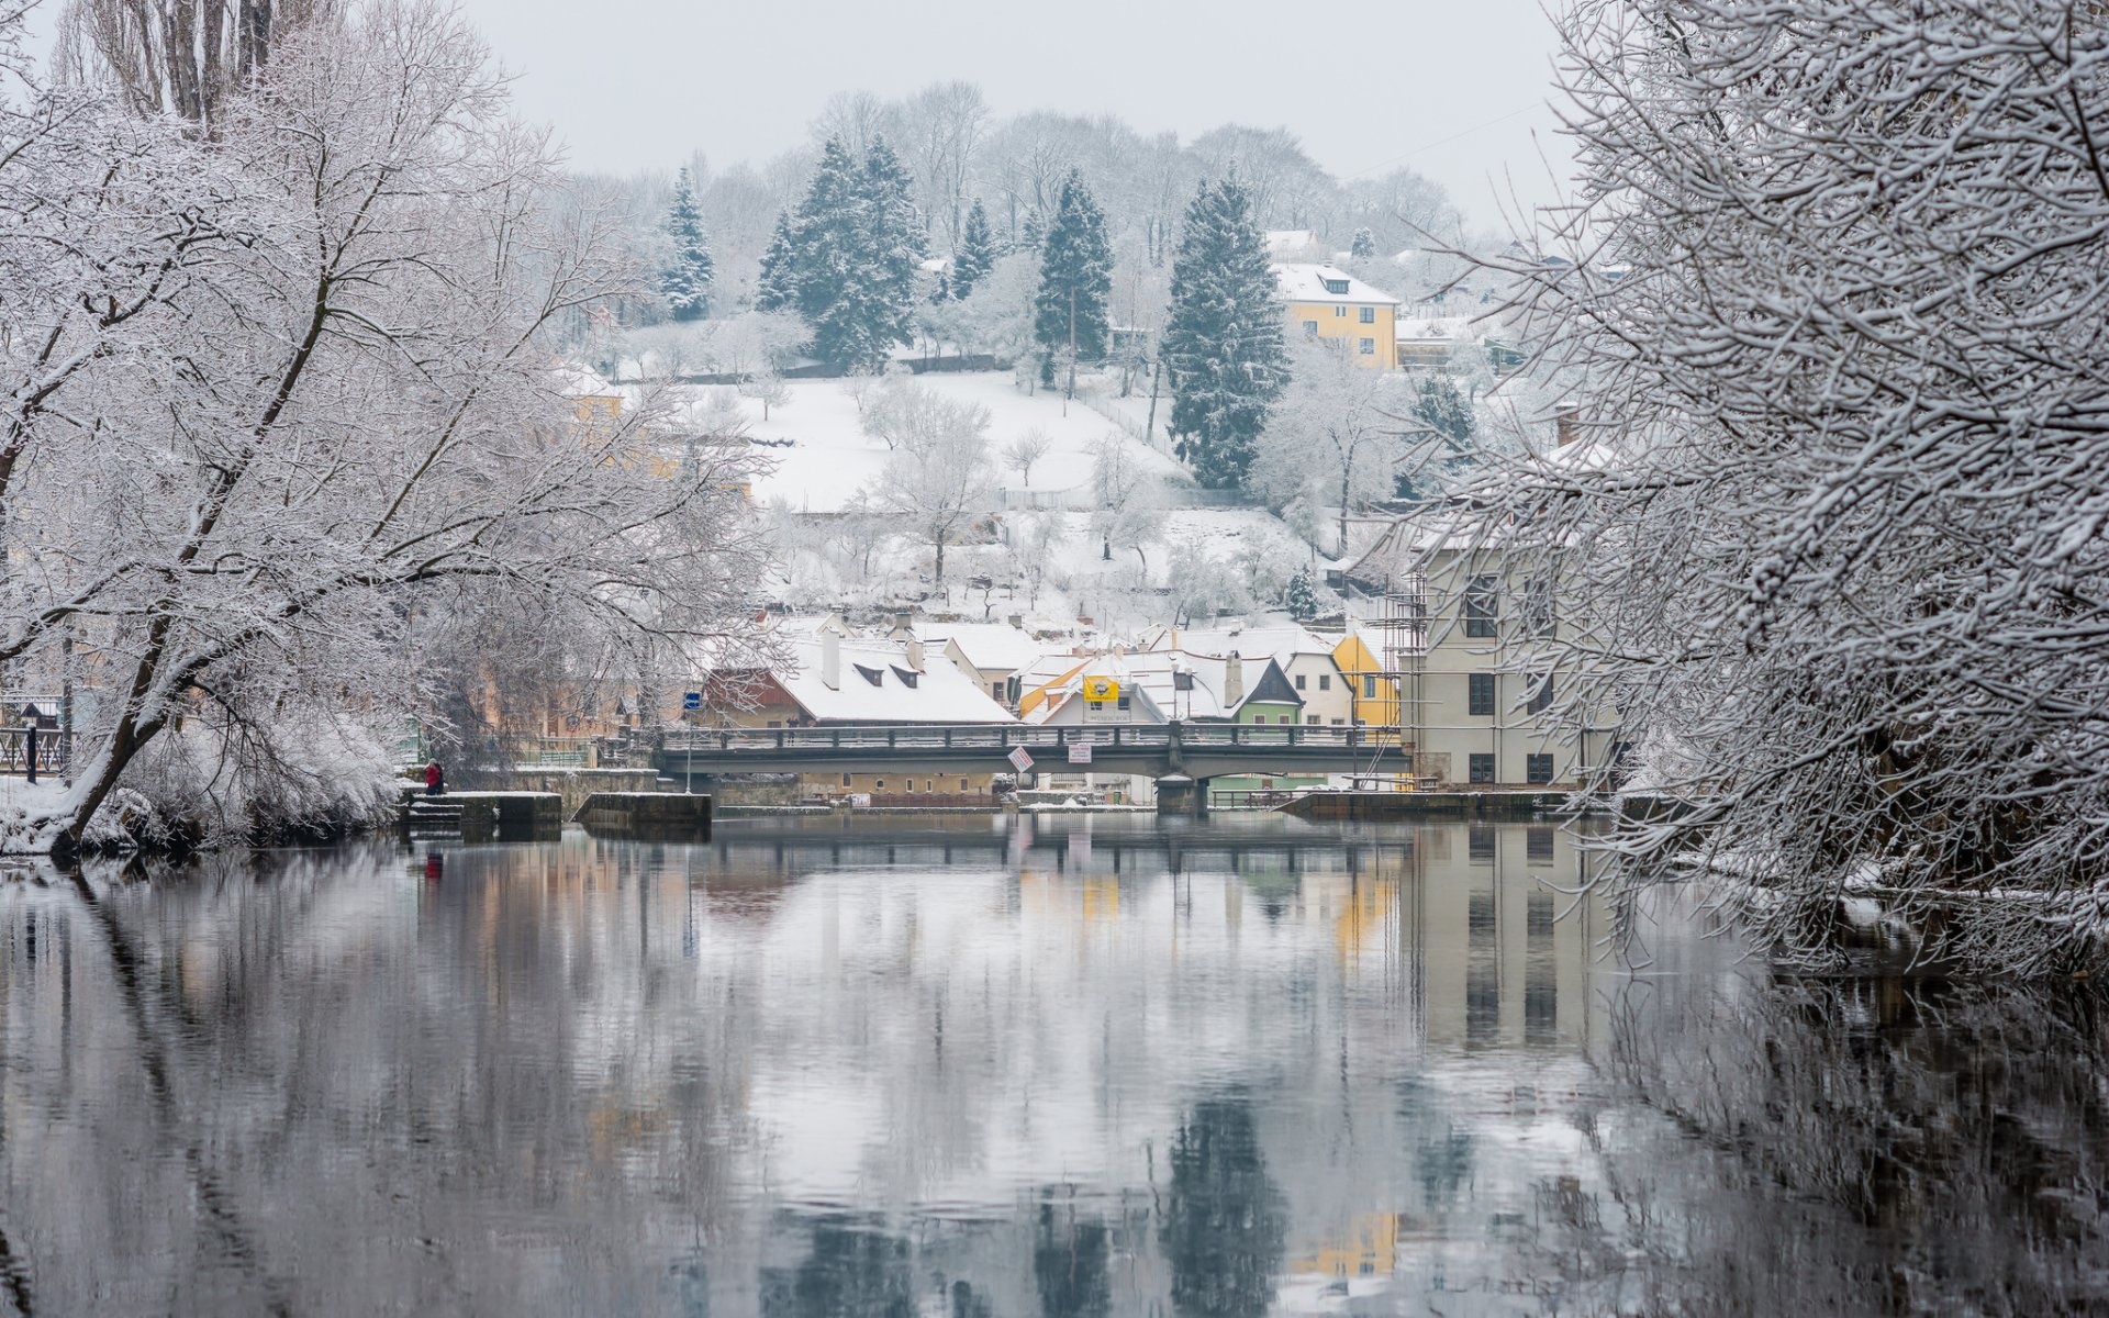
[[[1405,749],[1400,728],[1331,725],[1331,723],[1097,723],[1076,728],[1040,728],[1029,723],[995,725],[837,725],[837,728],[723,728],[704,732],[671,732],[666,755],[738,755],[778,751],[1067,751],[1069,747],[1105,747],[1160,751],[1181,747],[1255,747],[1255,749]]]

